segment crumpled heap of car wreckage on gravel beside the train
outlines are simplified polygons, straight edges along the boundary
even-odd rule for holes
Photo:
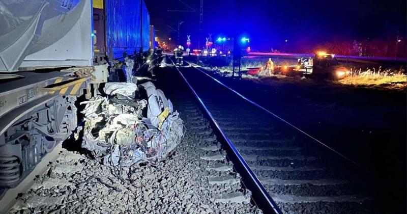
[[[108,97],[81,102],[82,147],[104,165],[155,165],[180,143],[183,121],[153,83],[107,83],[104,91]]]

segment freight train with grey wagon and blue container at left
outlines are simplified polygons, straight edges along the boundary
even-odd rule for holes
[[[0,187],[13,188],[77,126],[77,97],[109,61],[154,45],[143,0],[0,1]]]

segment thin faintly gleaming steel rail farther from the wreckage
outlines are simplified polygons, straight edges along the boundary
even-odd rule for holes
[[[188,62],[186,62],[186,63],[188,63]],[[367,169],[365,169],[364,167],[360,166],[358,163],[352,161],[351,158],[348,158],[347,156],[341,154],[340,152],[336,151],[335,149],[333,149],[332,147],[328,146],[327,144],[325,144],[325,143],[319,141],[318,139],[312,137],[312,136],[309,135],[307,132],[301,130],[301,129],[298,128],[297,126],[295,126],[295,125],[289,123],[288,121],[282,119],[281,117],[279,117],[278,115],[272,113],[271,111],[269,111],[268,109],[264,108],[263,106],[257,104],[257,103],[254,102],[253,100],[251,100],[251,99],[245,97],[245,96],[242,95],[241,93],[239,93],[239,92],[235,91],[234,89],[232,89],[232,88],[226,86],[225,84],[223,84],[222,82],[220,82],[217,78],[215,78],[215,77],[209,75],[209,74],[206,73],[205,71],[202,71],[201,69],[197,68],[196,66],[192,65],[191,63],[188,63],[188,64],[189,64],[191,67],[193,67],[193,68],[197,69],[198,71],[202,72],[203,74],[205,74],[205,75],[211,77],[215,82],[219,83],[219,84],[222,85],[223,87],[225,87],[225,88],[229,89],[230,91],[234,92],[235,94],[237,94],[237,95],[240,96],[241,98],[245,99],[246,101],[250,102],[251,104],[253,104],[253,105],[256,106],[257,108],[259,108],[259,109],[265,111],[266,113],[268,113],[268,114],[270,114],[270,115],[276,117],[277,119],[281,120],[282,122],[284,122],[284,123],[287,124],[288,126],[293,127],[294,129],[296,129],[296,130],[298,130],[299,132],[301,132],[303,135],[305,135],[305,136],[311,138],[311,139],[314,140],[315,142],[319,143],[320,145],[322,145],[323,147],[327,148],[328,150],[330,150],[330,151],[333,152],[334,154],[336,154],[336,155],[338,155],[339,157],[343,158],[345,161],[347,161],[348,163],[354,165],[354,166],[357,167],[358,169],[363,170],[363,171],[365,171],[365,172],[367,172],[367,173],[369,173],[369,174],[373,174],[373,173],[370,172],[369,170],[367,170]]]

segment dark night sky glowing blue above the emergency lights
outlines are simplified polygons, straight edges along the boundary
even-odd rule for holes
[[[200,0],[183,0],[196,12],[178,0],[145,0],[151,24],[157,36],[177,39],[167,25],[181,26],[181,41],[192,35],[196,48],[199,35]],[[332,40],[387,39],[406,34],[406,1],[340,0],[340,1],[267,1],[267,0],[204,0],[201,44],[208,33],[215,40],[219,35],[248,36],[254,49],[267,50],[307,42],[321,44]],[[184,41],[185,40],[185,41]],[[285,40],[288,42],[285,43]],[[201,45],[202,46],[202,45]]]

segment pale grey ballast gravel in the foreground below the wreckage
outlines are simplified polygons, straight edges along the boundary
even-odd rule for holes
[[[219,146],[207,127],[198,135],[186,121],[187,132],[181,144],[157,166],[103,166],[77,152],[64,150],[49,164],[33,188],[21,193],[10,213],[261,213],[254,204],[217,202],[215,196],[249,191],[241,183],[210,184],[209,177],[234,176],[206,168],[213,161],[201,159],[213,151],[202,147]],[[205,120],[199,120],[205,124]],[[193,123],[190,123],[191,125]],[[215,164],[227,164],[217,161]],[[117,176],[117,175],[120,175]],[[239,176],[237,176],[239,177]]]

